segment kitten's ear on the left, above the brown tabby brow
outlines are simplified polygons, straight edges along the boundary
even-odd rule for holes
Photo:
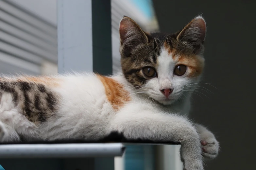
[[[131,48],[140,43],[145,43],[148,38],[141,27],[131,18],[124,16],[119,24],[121,45]]]

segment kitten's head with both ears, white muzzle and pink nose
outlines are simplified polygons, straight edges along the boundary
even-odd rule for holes
[[[175,34],[146,33],[124,17],[119,33],[122,71],[134,88],[164,105],[193,91],[204,67],[202,17]]]

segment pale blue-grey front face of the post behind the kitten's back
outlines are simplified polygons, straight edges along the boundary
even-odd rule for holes
[[[58,72],[93,71],[92,0],[58,0]]]

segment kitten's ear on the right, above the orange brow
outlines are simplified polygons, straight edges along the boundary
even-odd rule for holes
[[[178,41],[191,43],[195,48],[204,43],[206,35],[206,23],[203,17],[199,16],[190,21],[178,34]]]

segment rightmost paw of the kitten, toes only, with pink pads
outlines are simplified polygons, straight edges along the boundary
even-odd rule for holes
[[[215,137],[201,140],[203,155],[205,158],[214,159],[219,153],[219,142]]]

